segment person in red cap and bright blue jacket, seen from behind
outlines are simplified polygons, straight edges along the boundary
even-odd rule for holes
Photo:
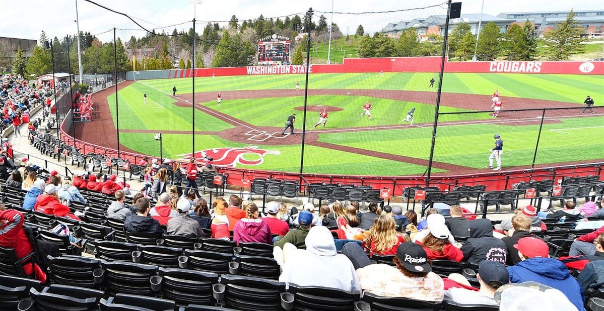
[[[547,243],[536,237],[523,237],[514,247],[518,250],[522,262],[507,268],[512,283],[536,281],[551,286],[563,292],[577,309],[585,310],[582,288],[570,275],[564,263],[549,258],[550,249]]]

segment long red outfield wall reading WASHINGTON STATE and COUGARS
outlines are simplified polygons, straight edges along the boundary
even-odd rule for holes
[[[345,58],[343,64],[311,64],[311,74],[440,72],[440,57]],[[447,61],[445,72],[604,75],[604,61]],[[304,74],[306,65],[198,68],[195,77]],[[193,77],[193,69],[129,71],[127,80]]]

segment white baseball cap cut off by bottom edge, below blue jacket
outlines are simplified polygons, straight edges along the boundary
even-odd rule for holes
[[[501,311],[535,310],[536,302],[541,310],[577,310],[564,293],[535,281],[501,286],[494,298]]]

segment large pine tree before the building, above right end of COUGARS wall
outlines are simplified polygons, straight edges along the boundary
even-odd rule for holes
[[[581,37],[583,28],[574,17],[571,10],[564,22],[545,33],[545,55],[550,60],[568,60],[570,55],[585,51],[586,38]]]

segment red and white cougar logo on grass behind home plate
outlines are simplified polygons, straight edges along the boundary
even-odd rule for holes
[[[181,160],[189,160],[191,159],[191,155],[193,155],[198,163],[203,163],[205,162],[204,157],[210,157],[214,159],[212,161],[213,165],[234,168],[237,164],[260,165],[264,162],[265,154],[280,154],[280,152],[258,149],[257,146],[247,146],[245,148],[216,148],[205,149],[195,152],[195,154],[183,154]]]

